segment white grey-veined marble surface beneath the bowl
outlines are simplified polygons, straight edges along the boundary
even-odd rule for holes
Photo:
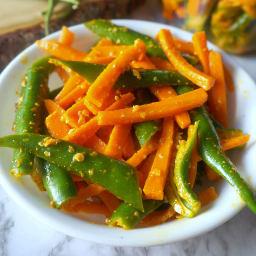
[[[129,18],[164,22],[158,2],[148,0]],[[175,25],[180,25],[176,23]],[[256,80],[256,55],[234,57]],[[97,245],[71,238],[32,218],[0,186],[0,255],[1,256],[155,256],[155,255],[256,255],[256,215],[244,208],[225,224],[176,244],[120,248]]]

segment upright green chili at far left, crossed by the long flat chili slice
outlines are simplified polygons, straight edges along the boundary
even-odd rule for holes
[[[22,82],[21,97],[18,100],[15,117],[15,133],[39,133],[42,112],[47,94],[48,75],[54,65],[49,56],[39,59],[26,72]],[[15,176],[31,174],[34,156],[20,149],[14,150],[11,173]]]

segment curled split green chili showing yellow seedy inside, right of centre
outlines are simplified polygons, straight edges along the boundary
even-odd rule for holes
[[[174,183],[177,187],[178,194],[187,202],[185,203],[186,206],[192,210],[194,215],[196,215],[201,208],[201,202],[190,188],[188,181],[188,169],[196,140],[198,123],[199,122],[195,122],[191,137],[188,138],[187,142],[185,142],[185,140],[181,140],[174,166]]]

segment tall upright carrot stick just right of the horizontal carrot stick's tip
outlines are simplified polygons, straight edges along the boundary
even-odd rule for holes
[[[220,53],[211,51],[209,62],[210,75],[216,79],[214,87],[208,92],[210,112],[219,123],[227,127],[226,86]]]

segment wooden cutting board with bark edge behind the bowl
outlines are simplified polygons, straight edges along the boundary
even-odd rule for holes
[[[80,0],[80,7],[65,19],[50,22],[50,33],[94,18],[124,18],[145,0]],[[44,37],[47,0],[0,0],[0,72],[23,49]],[[54,14],[65,10],[60,2]]]

